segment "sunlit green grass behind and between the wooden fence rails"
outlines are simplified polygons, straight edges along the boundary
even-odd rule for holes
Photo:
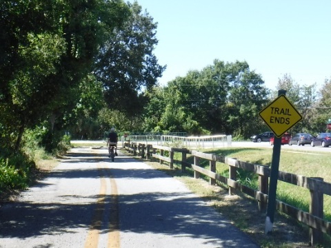
[[[218,154],[237,158],[240,161],[256,165],[268,165],[272,163],[272,149],[263,148],[221,148],[204,149],[201,152]],[[279,161],[279,171],[289,172],[301,176],[321,177],[325,182],[331,183],[331,161],[328,159],[330,154],[326,152],[305,153],[294,150],[282,150]],[[192,158],[191,158],[192,159]],[[191,161],[193,163],[193,161]],[[208,168],[209,161],[200,160],[201,167]],[[217,163],[217,173],[223,176],[228,175],[228,165]],[[245,172],[239,169],[237,178],[241,183],[258,189],[258,176],[251,172]],[[208,180],[205,176],[205,180]],[[277,199],[285,203],[298,207],[303,211],[309,211],[310,192],[308,189],[278,181]],[[324,196],[324,218],[331,220],[331,196]]]

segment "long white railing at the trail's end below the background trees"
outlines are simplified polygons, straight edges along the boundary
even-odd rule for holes
[[[124,142],[122,137],[122,143]],[[186,148],[230,147],[232,136],[219,134],[211,136],[172,136],[172,135],[129,135],[126,141],[145,143],[146,145],[174,145]]]

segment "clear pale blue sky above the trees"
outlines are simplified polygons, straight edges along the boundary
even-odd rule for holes
[[[133,2],[131,0],[130,2]],[[158,23],[154,54],[167,65],[161,85],[214,59],[247,61],[275,90],[331,79],[330,0],[138,0]]]

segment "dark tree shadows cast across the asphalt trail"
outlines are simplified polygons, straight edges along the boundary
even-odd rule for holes
[[[133,158],[117,156],[115,163],[123,163],[123,167],[102,167],[98,169],[94,164],[106,163],[108,159],[100,154],[70,152],[68,159],[63,160],[63,165],[74,165],[77,169],[54,169],[48,178],[71,179],[81,178],[112,178],[121,179],[162,179],[170,176],[155,169],[129,169],[128,163],[141,163]],[[79,167],[79,163],[90,163],[90,167]],[[94,165],[94,167],[92,167]],[[110,163],[112,165],[112,163]],[[63,166],[61,167],[63,168]],[[102,172],[100,171],[102,170]],[[38,190],[48,190],[48,178],[44,178],[34,187]],[[51,180],[57,182],[58,180]],[[143,181],[143,180],[142,180]],[[72,185],[75,187],[75,185]],[[153,185],[150,185],[153,187]],[[99,191],[97,189],[97,191]],[[89,228],[94,209],[98,207],[99,194],[81,196],[66,194],[57,196],[52,200],[19,200],[0,208],[0,238],[29,238],[36,236],[75,233],[75,229]],[[119,195],[119,203],[114,206],[114,196],[105,196],[104,213],[109,214],[114,207],[119,207],[121,231],[136,234],[154,233],[167,234],[176,237],[203,238],[206,245],[215,243],[217,247],[257,247],[251,246],[249,240],[224,220],[221,215],[214,213],[211,207],[206,207],[201,198],[188,192],[141,192],[139,194]],[[100,227],[101,233],[108,232],[108,226]],[[240,243],[240,246],[238,245]]]

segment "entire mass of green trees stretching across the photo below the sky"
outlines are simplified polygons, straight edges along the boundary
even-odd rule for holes
[[[23,20],[23,21],[22,21]],[[232,134],[268,130],[259,111],[276,92],[246,61],[215,59],[158,85],[157,23],[137,2],[0,2],[0,146],[19,149],[24,130],[100,138],[112,126],[134,132]],[[318,132],[330,114],[330,80],[277,88],[303,114],[292,132]],[[45,145],[45,144],[44,144]]]

